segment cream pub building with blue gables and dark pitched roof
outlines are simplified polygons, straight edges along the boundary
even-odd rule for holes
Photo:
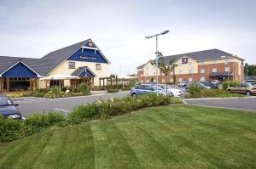
[[[0,56],[0,92],[78,87],[81,82],[93,88],[99,86],[99,78],[109,76],[109,64],[91,39],[41,59]]]

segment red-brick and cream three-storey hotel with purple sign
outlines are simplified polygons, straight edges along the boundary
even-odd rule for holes
[[[188,54],[176,54],[163,58],[167,63],[173,60],[177,67],[165,76],[158,70],[160,83],[167,82],[212,82],[212,80],[241,82],[244,79],[244,59],[218,49],[204,50]],[[139,83],[156,82],[156,68],[149,60],[137,67]]]

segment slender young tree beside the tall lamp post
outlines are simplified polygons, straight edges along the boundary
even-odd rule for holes
[[[160,69],[160,72],[162,72],[166,77],[165,80],[166,80],[166,95],[167,95],[167,75],[169,75],[170,71],[173,69],[173,80],[175,84],[174,69],[175,67],[177,67],[177,64],[175,64],[175,59],[171,59],[168,62],[165,62],[165,57],[160,52],[158,53],[158,57],[159,57],[158,68]],[[151,65],[155,65],[155,62],[152,61]]]

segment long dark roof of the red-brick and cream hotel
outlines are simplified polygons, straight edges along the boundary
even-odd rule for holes
[[[185,54],[174,54],[174,55],[170,55],[170,56],[165,56],[165,57],[163,57],[163,59],[164,59],[164,62],[167,63],[172,59],[174,59],[174,61],[177,61],[178,59],[180,59],[183,56],[190,57],[197,61],[220,59],[221,56],[234,57],[237,59],[241,59],[233,54],[226,53],[217,48],[213,48],[213,49],[209,49],[209,50],[202,50],[202,51],[197,51],[197,52],[192,52],[192,53],[185,53]],[[243,59],[241,59],[241,60],[243,60]],[[152,61],[155,61],[155,59]],[[146,64],[144,64],[144,65],[146,65]],[[140,65],[139,67],[137,67],[137,69],[143,68],[144,65]]]

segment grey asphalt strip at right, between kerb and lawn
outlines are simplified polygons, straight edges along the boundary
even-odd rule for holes
[[[256,111],[256,98],[240,98],[240,99],[195,99],[186,100],[187,104],[207,105],[214,107],[224,107],[233,109],[245,109]]]

